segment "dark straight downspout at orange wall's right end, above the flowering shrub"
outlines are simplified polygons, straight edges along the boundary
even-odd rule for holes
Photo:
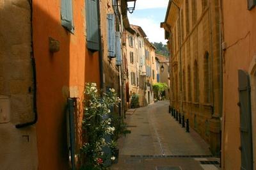
[[[99,69],[100,69],[100,89],[104,91],[104,79],[103,79],[103,56],[102,56],[102,41],[101,41],[101,27],[100,27],[100,0],[97,0],[98,8],[98,27],[99,27]]]

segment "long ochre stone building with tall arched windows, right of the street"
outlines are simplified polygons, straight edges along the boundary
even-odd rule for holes
[[[169,1],[164,27],[170,50],[170,107],[220,156],[222,116],[219,1]]]

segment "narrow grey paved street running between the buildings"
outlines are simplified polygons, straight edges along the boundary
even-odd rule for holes
[[[161,101],[127,112],[125,121],[131,134],[118,141],[119,161],[111,169],[219,168],[216,163],[220,161],[211,156],[209,146],[193,130],[186,133],[168,114],[168,105]]]

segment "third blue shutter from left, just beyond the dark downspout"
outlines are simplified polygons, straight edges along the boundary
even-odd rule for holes
[[[111,58],[116,57],[115,46],[115,15],[108,14],[108,56]]]

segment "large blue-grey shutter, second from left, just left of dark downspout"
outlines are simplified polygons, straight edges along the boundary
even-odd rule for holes
[[[97,0],[86,0],[86,41],[88,49],[99,50]]]

